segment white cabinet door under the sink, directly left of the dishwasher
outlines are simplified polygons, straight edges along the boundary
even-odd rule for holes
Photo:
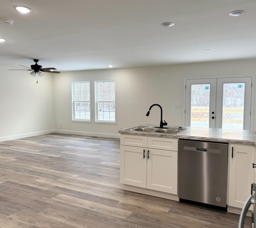
[[[177,194],[178,152],[148,149],[147,188]]]

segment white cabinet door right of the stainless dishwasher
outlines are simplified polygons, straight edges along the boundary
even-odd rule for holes
[[[228,206],[243,208],[244,203],[251,194],[254,173],[252,168],[254,147],[232,144],[229,147],[228,157],[230,158]]]

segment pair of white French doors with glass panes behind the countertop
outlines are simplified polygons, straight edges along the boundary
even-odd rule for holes
[[[185,126],[250,130],[252,77],[186,79]]]

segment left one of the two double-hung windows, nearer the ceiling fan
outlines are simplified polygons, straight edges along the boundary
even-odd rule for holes
[[[90,81],[72,82],[72,120],[91,121]]]

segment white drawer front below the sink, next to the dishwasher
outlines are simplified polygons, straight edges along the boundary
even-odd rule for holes
[[[148,148],[178,151],[178,139],[166,139],[163,137],[148,137]]]

